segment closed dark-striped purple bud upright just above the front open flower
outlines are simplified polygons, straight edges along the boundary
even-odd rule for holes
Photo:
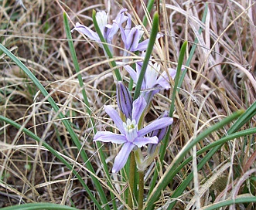
[[[125,114],[126,118],[131,119],[132,100],[131,93],[125,84],[121,81],[117,83],[117,103],[118,108]]]

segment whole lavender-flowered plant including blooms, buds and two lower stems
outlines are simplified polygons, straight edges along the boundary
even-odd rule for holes
[[[94,141],[122,144],[121,150],[114,158],[113,173],[118,173],[118,171],[124,168],[129,155],[134,153],[133,157],[135,158],[133,158],[133,161],[136,162],[137,170],[140,173],[139,176],[142,174],[143,180],[144,171],[152,163],[155,155],[158,154],[159,143],[173,122],[172,117],[169,117],[166,111],[159,118],[152,120],[150,123],[147,122],[146,125],[145,116],[148,110],[150,110],[150,104],[154,95],[159,93],[160,90],[169,90],[171,87],[170,80],[175,78],[176,69],[169,68],[167,71],[161,71],[159,63],[153,63],[149,60],[155,41],[162,37],[162,34],[157,32],[159,24],[157,13],[154,15],[151,36],[149,39],[144,40],[142,39],[144,35],[142,25],[132,26],[131,15],[128,14],[126,8],[122,8],[118,12],[112,24],[108,23],[108,14],[104,11],[94,13],[93,19],[96,32],[78,22],[71,32],[76,30],[92,41],[97,42],[97,45],[104,49],[105,56],[108,59],[114,56],[114,45],[112,42],[114,36],[115,39],[118,39],[119,36],[119,40],[123,42],[125,47],[122,53],[123,56],[127,56],[128,52],[136,52],[138,55],[141,53],[140,58],[142,58],[142,61],[135,63],[135,69],[128,65],[127,59],[122,59],[122,62],[118,63],[124,67],[131,80],[135,81],[135,94],[133,98],[131,91],[128,90],[125,82],[122,81],[120,69],[118,72],[114,72],[119,113],[110,105],[104,106],[105,112],[114,121],[115,127],[118,128],[120,133],[97,131],[94,135]],[[114,64],[111,63],[110,65],[114,67],[116,63],[114,62]],[[143,156],[141,147],[148,149],[146,157]],[[131,171],[135,171],[136,165],[132,164],[132,160],[130,164],[129,184],[131,187],[131,182],[134,182],[134,174]],[[139,184],[138,188],[138,208],[142,208],[144,186]],[[133,208],[131,202],[132,190],[133,188],[131,187],[128,198],[128,205],[131,208]]]

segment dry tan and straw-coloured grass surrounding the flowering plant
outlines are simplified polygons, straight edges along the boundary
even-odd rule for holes
[[[60,1],[60,5],[56,1],[47,0],[23,2],[26,11],[15,0],[0,2],[1,43],[18,56],[53,94],[54,100],[75,127],[98,177],[104,180],[97,148],[92,143],[90,120],[82,102],[80,86],[65,39],[60,5],[72,22],[92,25],[92,9],[108,8],[108,1],[67,0]],[[115,1],[110,2],[110,18],[113,19],[119,5]],[[124,2],[126,3],[121,5],[133,13],[135,22],[140,22],[143,17],[140,1]],[[162,1],[160,8],[161,30],[165,36],[162,39],[162,48],[155,50],[155,58],[162,63],[163,69],[176,67],[179,49],[184,40],[189,42],[186,59],[195,39],[199,41],[179,98],[176,99],[175,123],[172,125],[172,136],[166,153],[166,168],[191,137],[235,110],[246,109],[255,101],[256,4],[253,1],[207,2],[209,11],[204,24],[201,19],[205,1],[166,0]],[[203,27],[201,35],[198,33],[200,27]],[[147,30],[150,32],[150,27]],[[77,32],[73,34],[73,39],[97,130],[103,130],[106,119],[102,117],[106,116],[101,108],[104,104],[113,104],[115,101],[111,70],[101,49],[95,47],[94,43],[88,42]],[[115,49],[115,52],[118,53],[119,49]],[[0,55],[0,66],[0,113],[32,130],[70,160],[80,163],[84,180],[96,194],[84,163],[77,158],[78,151],[70,141],[67,130],[56,118],[56,113],[53,113],[42,94],[4,55]],[[159,113],[158,110],[168,109],[169,100],[166,97],[170,94],[164,93],[165,97],[155,97],[155,109],[150,112],[152,117]],[[254,117],[244,129],[255,127],[255,120]],[[108,123],[111,124],[111,121]],[[77,208],[94,208],[84,188],[49,151],[13,127],[2,122],[1,127],[0,207],[24,202],[54,202],[74,205]],[[227,128],[213,133],[197,145],[198,149],[225,134]],[[209,205],[213,194],[217,199],[218,195],[224,196],[227,185],[236,185],[244,170],[254,168],[254,159],[250,158],[255,151],[254,146],[251,146],[254,145],[254,137],[248,137],[247,141],[236,139],[225,144],[210,163],[199,171],[200,185],[206,188],[204,183],[207,183],[210,186],[210,191],[207,188],[207,192],[202,194],[202,205]],[[104,150],[107,157],[110,157],[108,161],[111,168],[116,150],[108,144]],[[232,167],[224,168],[226,163],[231,163]],[[160,206],[168,201],[169,195],[186,178],[191,167],[192,165],[187,165],[179,172],[164,191],[159,200]],[[225,170],[218,171],[221,167]],[[215,172],[219,176],[214,175],[214,168],[217,168]],[[148,174],[154,168],[150,170]],[[116,187],[118,186],[117,184]],[[183,209],[184,204],[190,205],[193,188],[191,183],[183,197],[179,198],[182,202],[177,203],[177,209]],[[246,182],[239,190],[247,191]],[[254,192],[254,186],[250,190]],[[106,193],[108,194],[107,189]]]

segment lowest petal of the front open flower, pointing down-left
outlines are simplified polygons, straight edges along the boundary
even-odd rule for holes
[[[121,151],[119,151],[117,157],[114,159],[114,166],[112,168],[113,173],[117,173],[125,166],[129,154],[134,147],[135,144],[131,144],[130,142],[125,143],[123,147],[121,147]]]

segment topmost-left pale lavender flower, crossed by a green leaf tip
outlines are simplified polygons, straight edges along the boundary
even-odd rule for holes
[[[126,11],[127,11],[126,8],[121,9],[121,11],[118,13],[116,19],[114,19],[113,25],[110,25],[107,23],[108,14],[106,12],[104,12],[104,11],[97,12],[97,14],[96,14],[97,24],[99,25],[99,28],[101,29],[101,33],[104,36],[104,39],[109,44],[111,44],[111,41],[112,41],[114,35],[118,32],[119,26],[128,19],[128,17],[125,15]],[[98,36],[97,32],[94,32],[93,30],[91,30],[90,28],[88,28],[85,25],[80,24],[79,22],[76,23],[75,28],[73,28],[71,30],[71,32],[73,32],[74,30],[84,33],[84,35],[87,36],[91,40],[94,40],[96,42],[101,42],[101,39]],[[102,47],[101,44],[100,44],[100,46]]]

